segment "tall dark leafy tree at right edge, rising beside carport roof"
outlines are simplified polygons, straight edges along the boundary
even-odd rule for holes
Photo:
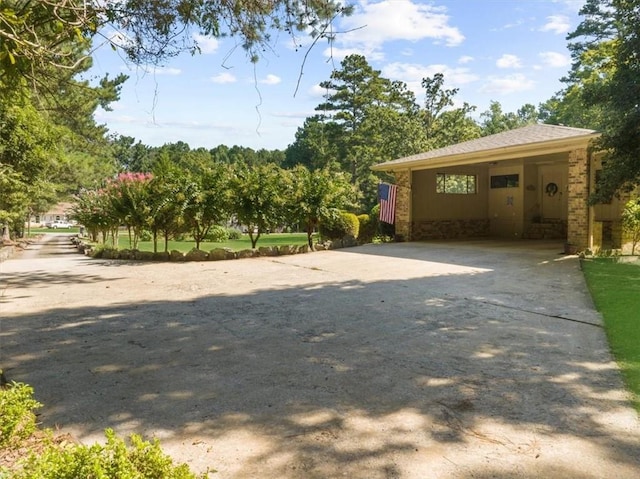
[[[587,0],[583,20],[569,35],[574,64],[569,81],[580,86],[586,109],[602,112],[605,152],[597,194],[606,201],[640,184],[640,5],[637,0]]]

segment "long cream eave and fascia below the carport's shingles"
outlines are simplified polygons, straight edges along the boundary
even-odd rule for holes
[[[600,136],[594,132],[580,137],[561,138],[558,140],[545,140],[526,145],[515,145],[501,148],[492,148],[468,153],[458,153],[436,158],[421,158],[397,163],[381,163],[371,167],[373,171],[400,171],[400,170],[424,170],[445,166],[473,165],[489,161],[503,161],[531,156],[550,155],[561,153],[575,148],[586,148],[589,142]]]

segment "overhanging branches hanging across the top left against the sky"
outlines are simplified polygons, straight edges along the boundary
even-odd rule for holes
[[[78,61],[69,52],[73,41],[94,37],[120,48],[134,62],[159,63],[182,51],[198,51],[191,31],[233,36],[257,61],[272,43],[271,33],[297,32],[326,37],[328,26],[350,7],[332,0],[5,0],[0,10],[0,83],[7,86],[34,79],[34,71],[66,68]],[[117,30],[104,38],[103,28]]]

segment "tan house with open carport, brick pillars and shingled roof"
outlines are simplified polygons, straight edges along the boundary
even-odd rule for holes
[[[378,164],[393,174],[396,235],[405,240],[530,238],[566,248],[630,249],[629,197],[589,205],[602,169],[594,130],[534,124]]]

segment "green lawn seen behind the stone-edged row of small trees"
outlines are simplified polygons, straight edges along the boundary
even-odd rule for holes
[[[261,235],[256,247],[302,244],[307,244],[306,233],[270,233]],[[175,249],[186,253],[195,247],[195,241],[169,241],[169,251]],[[249,235],[242,235],[242,238],[238,240],[227,240],[222,243],[200,243],[200,249],[202,251],[211,251],[215,248],[230,248],[233,251],[251,249],[251,239]],[[118,249],[129,249],[129,237],[126,233],[120,234],[118,238]],[[141,241],[138,244],[138,249],[140,251],[153,251],[153,242]],[[164,240],[162,239],[158,240],[158,251],[164,251]]]

